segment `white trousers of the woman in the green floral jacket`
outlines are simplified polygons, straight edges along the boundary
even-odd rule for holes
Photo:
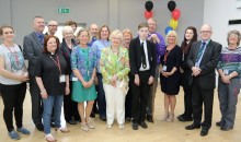
[[[124,125],[125,122],[125,97],[122,90],[118,87],[119,82],[117,82],[116,87],[111,84],[103,84],[106,100],[106,118],[107,125],[112,125],[115,119],[115,114],[118,125]]]

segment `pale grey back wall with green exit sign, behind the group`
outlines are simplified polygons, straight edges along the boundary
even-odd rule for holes
[[[23,36],[33,31],[32,19],[42,15],[45,21],[56,20],[59,23],[73,20],[78,23],[107,24],[111,29],[130,28],[136,36],[137,26],[146,22],[144,16],[147,0],[0,0],[0,25],[10,24],[14,27],[18,44],[22,44]],[[158,32],[164,35],[169,26],[171,12],[168,9],[170,0],[152,0],[153,14],[158,20]],[[181,10],[181,17],[176,32],[180,42],[184,31],[193,25],[199,28],[204,19],[204,0],[174,0]],[[69,14],[59,14],[57,9],[69,8]],[[4,14],[3,14],[4,13]]]

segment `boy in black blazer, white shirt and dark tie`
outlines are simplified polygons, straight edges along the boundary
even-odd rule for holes
[[[157,58],[154,44],[147,40],[148,24],[138,26],[138,37],[129,45],[130,87],[133,91],[133,129],[138,130],[138,123],[147,129],[145,122],[150,85],[153,83]]]

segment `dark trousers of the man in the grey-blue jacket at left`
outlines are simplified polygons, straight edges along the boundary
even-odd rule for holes
[[[35,126],[42,125],[43,100],[35,76],[30,76],[30,93],[32,100],[32,119]]]

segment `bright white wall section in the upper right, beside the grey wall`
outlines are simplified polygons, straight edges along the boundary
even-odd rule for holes
[[[241,20],[241,9],[236,8],[237,0],[205,0],[204,23],[213,26],[213,39],[227,46],[227,33],[237,28],[241,32],[241,25],[229,26],[229,20]]]

